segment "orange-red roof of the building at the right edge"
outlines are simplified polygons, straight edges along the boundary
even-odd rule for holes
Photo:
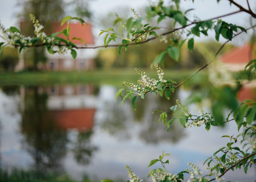
[[[247,63],[255,58],[256,56],[253,55],[253,51],[251,51],[249,44],[242,47],[233,48],[220,57],[224,63]]]

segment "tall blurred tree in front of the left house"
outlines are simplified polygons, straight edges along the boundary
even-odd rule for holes
[[[44,26],[43,31],[51,32],[52,22],[61,20],[64,15],[63,0],[22,0],[18,3],[22,6],[22,12],[18,14],[21,22],[21,32],[25,36],[35,36],[33,23],[29,14],[35,15],[40,24]],[[24,53],[24,63],[27,68],[38,70],[38,63],[47,61],[45,48],[31,48]]]

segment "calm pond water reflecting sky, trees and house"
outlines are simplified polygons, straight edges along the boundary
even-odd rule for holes
[[[166,100],[152,94],[137,99],[137,111],[126,100],[115,101],[118,88],[111,85],[53,85],[2,87],[0,90],[1,168],[67,173],[81,180],[128,180],[125,164],[141,179],[149,180],[150,160],[164,150],[170,153],[167,170],[178,173],[192,162],[206,173],[202,162],[236,135],[235,123],[225,128],[183,129],[174,122],[169,130],[158,123],[159,114],[175,100],[184,102],[190,91],[179,89]],[[247,92],[246,92],[247,93]],[[255,93],[255,92],[254,92]],[[248,95],[248,93],[247,93]],[[255,95],[254,95],[255,96]],[[197,105],[190,111],[198,112]],[[237,146],[241,147],[240,144]],[[225,179],[252,182],[256,169],[228,172]]]

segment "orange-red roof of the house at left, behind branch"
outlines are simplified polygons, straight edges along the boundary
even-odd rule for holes
[[[62,32],[63,29],[67,27],[67,23],[61,26],[61,22],[52,24],[53,32]],[[85,41],[86,44],[94,44],[94,39],[92,35],[92,25],[91,24],[82,24],[80,22],[71,22],[69,24],[70,32],[69,32],[69,40],[75,44],[83,44],[80,40],[72,38],[80,38]],[[63,34],[59,34],[58,37],[63,39],[67,39]]]

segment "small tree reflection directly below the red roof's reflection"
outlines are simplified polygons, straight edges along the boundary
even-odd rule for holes
[[[73,153],[76,162],[80,164],[85,165],[90,163],[93,152],[97,150],[97,148],[90,143],[92,134],[93,131],[83,131],[78,133],[76,142],[74,143]]]

